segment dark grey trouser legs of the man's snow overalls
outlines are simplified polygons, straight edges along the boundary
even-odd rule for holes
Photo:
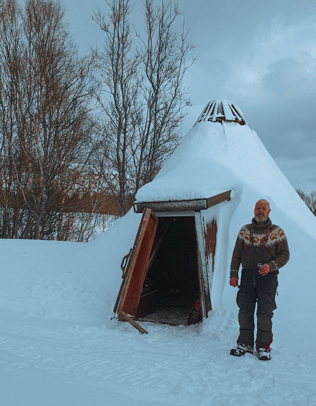
[[[256,350],[272,342],[272,316],[276,309],[275,293],[278,271],[265,276],[253,269],[243,269],[236,302],[239,307],[239,337],[237,343],[254,346],[254,309],[257,303]]]

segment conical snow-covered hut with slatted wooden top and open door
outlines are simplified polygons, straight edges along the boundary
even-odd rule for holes
[[[159,289],[165,296],[178,291],[187,292],[188,301],[189,296],[199,298],[203,317],[211,309],[235,306],[234,295],[227,291],[231,253],[260,198],[270,202],[272,222],[285,230],[290,250],[298,235],[305,236],[305,248],[316,248],[315,217],[241,110],[227,100],[207,104],[136,198],[134,212],[143,212],[143,217],[136,222],[140,225],[128,264],[122,265],[124,278],[114,308],[119,317],[121,311],[137,317],[139,300],[147,312],[154,309]],[[291,252],[290,264],[293,258],[297,266],[297,253]]]

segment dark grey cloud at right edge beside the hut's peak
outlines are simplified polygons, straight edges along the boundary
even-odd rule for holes
[[[250,107],[248,121],[271,155],[316,155],[316,60],[306,52],[277,60],[261,86],[260,108]]]

